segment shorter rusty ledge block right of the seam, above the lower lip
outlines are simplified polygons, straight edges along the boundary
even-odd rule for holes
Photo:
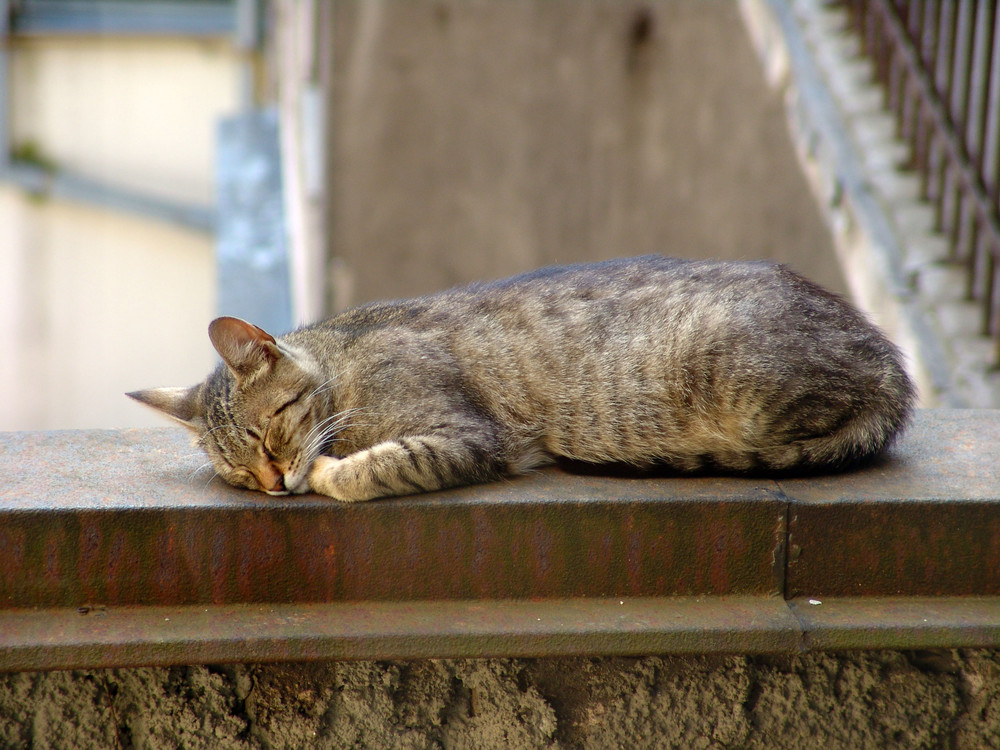
[[[893,460],[780,482],[787,597],[1000,594],[997,412],[921,414]]]

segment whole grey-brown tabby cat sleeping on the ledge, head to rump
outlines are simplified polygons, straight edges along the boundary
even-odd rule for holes
[[[350,310],[275,339],[236,318],[191,388],[128,394],[219,475],[344,501],[557,457],[682,471],[829,470],[883,450],[914,400],[896,348],[769,262],[545,268]]]

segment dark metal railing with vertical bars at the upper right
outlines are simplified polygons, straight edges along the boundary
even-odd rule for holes
[[[1000,366],[998,0],[840,0]]]

